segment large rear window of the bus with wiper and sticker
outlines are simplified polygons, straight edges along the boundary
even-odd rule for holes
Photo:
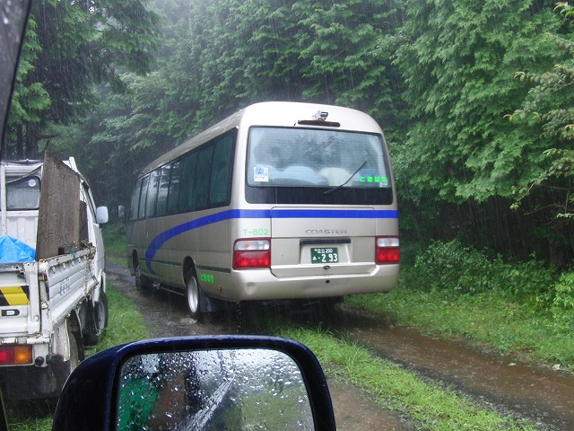
[[[390,188],[379,135],[308,128],[251,128],[252,187]]]

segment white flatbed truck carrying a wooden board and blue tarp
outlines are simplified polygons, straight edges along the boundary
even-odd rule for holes
[[[0,163],[0,384],[49,399],[108,324],[100,223],[74,158]]]

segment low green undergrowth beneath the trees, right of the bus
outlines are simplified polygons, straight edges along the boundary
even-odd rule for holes
[[[542,321],[540,325],[552,326],[558,334],[570,333],[574,328],[574,272],[557,275],[535,259],[505,263],[500,256],[490,258],[456,240],[433,242],[417,256],[413,266],[403,268],[400,285],[448,298],[448,302],[471,301],[474,307],[501,298],[514,303],[512,307],[522,313],[535,314],[535,319]],[[428,307],[438,315],[439,308],[443,308]]]

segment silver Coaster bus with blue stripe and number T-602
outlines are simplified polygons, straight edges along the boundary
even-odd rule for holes
[[[312,103],[251,105],[148,165],[127,229],[132,274],[227,301],[387,292],[396,189],[377,122]]]

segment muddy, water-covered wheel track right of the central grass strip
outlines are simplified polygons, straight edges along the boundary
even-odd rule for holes
[[[442,380],[457,390],[561,430],[574,429],[574,376],[488,355],[457,341],[431,339],[414,330],[344,312],[333,330],[378,355]]]

